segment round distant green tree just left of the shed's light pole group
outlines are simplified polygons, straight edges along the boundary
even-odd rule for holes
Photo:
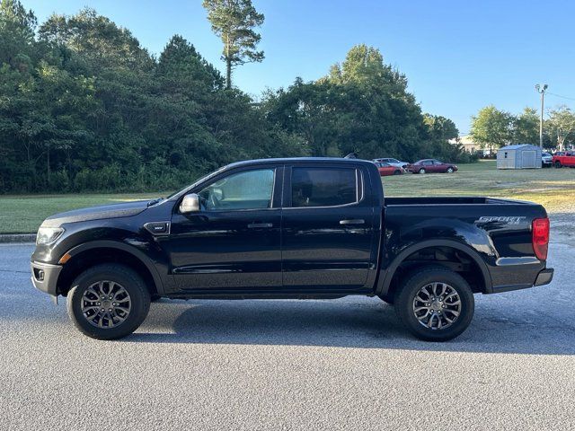
[[[476,143],[482,147],[487,146],[492,152],[493,147],[509,144],[513,133],[512,124],[513,117],[509,112],[490,105],[472,117],[471,136]]]

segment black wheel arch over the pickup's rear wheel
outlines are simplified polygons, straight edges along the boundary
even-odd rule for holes
[[[425,249],[436,249],[436,248],[447,248],[460,251],[464,255],[472,259],[473,263],[481,271],[482,276],[482,293],[491,293],[491,275],[487,265],[479,255],[477,251],[474,251],[472,247],[463,244],[461,242],[450,241],[450,240],[429,240],[424,242],[418,242],[407,247],[401,251],[392,262],[386,267],[381,269],[378,284],[376,286],[376,295],[387,296],[393,290],[392,282],[394,277],[397,275],[398,269],[402,266],[404,262],[407,261],[412,255],[418,251],[424,251]],[[432,264],[432,262],[429,262]],[[441,262],[435,262],[435,264],[442,265]],[[427,265],[427,264],[426,264]]]

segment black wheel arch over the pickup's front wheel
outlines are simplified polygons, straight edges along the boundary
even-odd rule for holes
[[[116,262],[135,269],[142,276],[150,294],[164,295],[164,283],[154,263],[142,251],[115,241],[85,242],[66,252],[70,258],[57,279],[57,294],[67,295],[71,284],[85,269],[101,263]]]

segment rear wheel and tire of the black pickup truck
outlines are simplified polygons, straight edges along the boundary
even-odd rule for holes
[[[440,295],[426,296],[424,289],[425,292]],[[454,293],[456,295],[452,295]],[[429,302],[416,300],[416,296],[429,299]],[[442,267],[421,268],[406,279],[395,293],[394,305],[399,320],[407,330],[426,341],[455,339],[467,329],[475,309],[469,284],[459,274]]]

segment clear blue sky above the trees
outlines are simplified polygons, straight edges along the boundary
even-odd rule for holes
[[[40,22],[84,6],[128,28],[158,55],[181,34],[222,72],[222,45],[201,0],[21,0]],[[252,0],[264,13],[262,63],[240,66],[234,84],[260,97],[268,88],[312,81],[352,46],[379,48],[408,78],[421,109],[469,132],[471,116],[493,104],[539,110],[535,84],[548,84],[545,111],[575,108],[573,1]],[[553,93],[553,94],[552,94]],[[563,96],[563,97],[559,97]]]

